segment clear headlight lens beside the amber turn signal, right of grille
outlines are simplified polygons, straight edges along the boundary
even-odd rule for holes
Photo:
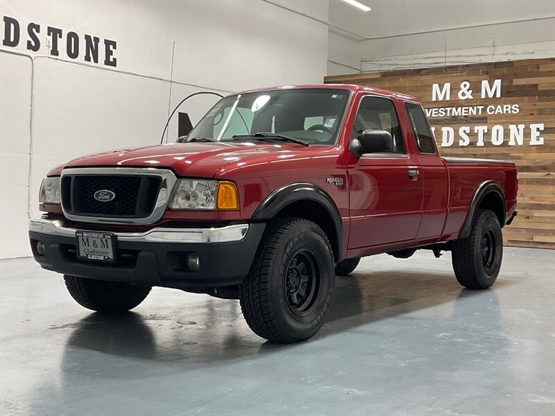
[[[216,200],[215,180],[181,179],[176,184],[169,207],[171,209],[214,209]]]

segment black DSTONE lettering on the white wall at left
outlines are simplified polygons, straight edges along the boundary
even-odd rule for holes
[[[115,40],[80,35],[74,31],[35,22],[24,26],[17,19],[4,16],[2,46],[17,48],[20,45],[32,52],[38,52],[41,48],[48,49],[49,55],[54,57],[117,67],[117,58],[114,56],[117,48]]]

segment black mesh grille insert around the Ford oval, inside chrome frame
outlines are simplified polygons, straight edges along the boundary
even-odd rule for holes
[[[65,175],[62,205],[78,216],[144,218],[154,209],[161,177],[152,175]],[[96,191],[112,191],[114,199],[99,201]]]

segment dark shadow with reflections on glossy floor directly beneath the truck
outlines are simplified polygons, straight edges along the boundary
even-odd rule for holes
[[[495,287],[505,284],[509,282],[497,281]],[[234,300],[210,298],[202,304],[181,309],[169,307],[152,315],[130,312],[114,317],[92,313],[69,325],[75,329],[67,339],[62,367],[71,371],[80,367],[83,361],[74,358],[81,356],[83,349],[114,357],[215,365],[221,361],[248,359],[283,349],[303,348],[303,345],[317,343],[322,338],[353,327],[445,302],[461,304],[473,296],[497,302],[494,291],[464,290],[452,275],[355,272],[350,276],[337,277],[334,300],[323,329],[306,343],[296,345],[264,343],[247,327],[239,302]],[[455,307],[453,315],[447,319],[461,318],[455,315],[456,311]],[[136,368],[139,370],[140,367]],[[98,372],[98,367],[94,366],[91,370]],[[111,370],[107,368],[106,371]]]

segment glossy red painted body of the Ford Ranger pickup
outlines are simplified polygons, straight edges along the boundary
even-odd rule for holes
[[[309,182],[327,192],[339,209],[345,258],[457,239],[472,198],[486,180],[494,180],[504,190],[506,218],[515,211],[518,185],[513,164],[449,163],[437,150],[435,155],[418,152],[404,107],[406,101],[419,103],[418,99],[355,85],[302,86],[312,87],[345,89],[351,94],[337,146],[167,144],[80,157],[54,168],[49,176],[60,175],[65,167],[156,167],[171,168],[179,177],[213,177],[237,184],[241,202],[238,211],[168,210],[158,223],[148,228],[175,220],[249,220],[260,203],[276,189]],[[368,95],[393,101],[406,156],[355,157],[350,153],[350,133],[359,101]],[[420,175],[416,180],[409,180],[409,168],[418,169]],[[329,184],[327,177],[342,177],[343,185]],[[61,214],[56,205],[41,208]]]

